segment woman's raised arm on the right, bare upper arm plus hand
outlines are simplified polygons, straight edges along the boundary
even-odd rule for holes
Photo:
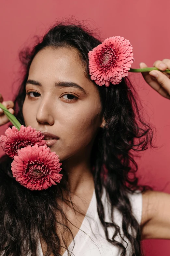
[[[161,65],[160,65],[161,64]],[[154,67],[170,69],[170,59],[155,61]],[[140,68],[147,67],[140,63]],[[152,74],[156,73],[157,77]],[[154,70],[142,73],[145,81],[160,95],[170,99],[170,74]],[[141,239],[170,239],[170,194],[158,191],[147,191],[142,194]]]

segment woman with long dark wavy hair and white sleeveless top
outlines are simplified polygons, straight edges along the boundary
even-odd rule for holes
[[[127,77],[109,87],[90,79],[88,52],[99,44],[82,25],[61,22],[20,54],[25,74],[18,96],[0,101],[21,124],[45,135],[63,177],[31,191],[13,177],[13,159],[1,157],[2,255],[138,256],[141,239],[170,238],[169,194],[138,186],[135,176],[132,151],[153,146],[152,129]],[[154,66],[165,70],[170,60]],[[156,79],[153,71],[142,75],[170,99],[168,74],[154,72]],[[0,124],[7,122],[1,112]]]

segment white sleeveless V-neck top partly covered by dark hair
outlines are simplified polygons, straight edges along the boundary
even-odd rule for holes
[[[137,192],[140,192],[137,190]],[[135,215],[138,223],[141,223],[141,217],[142,217],[142,193],[134,193],[129,194],[129,199],[132,204],[132,210],[133,214]],[[105,210],[105,221],[110,221],[110,215],[108,214],[111,212],[110,203],[107,202],[106,197],[106,190],[104,189],[104,193],[102,195],[102,203],[104,205]],[[117,225],[119,225],[120,230],[122,231],[122,214],[117,210],[113,210],[113,218]],[[91,226],[91,227],[90,227]],[[109,227],[108,229],[108,236],[111,238],[114,234],[115,228]],[[85,233],[84,233],[84,232]],[[132,229],[130,228],[130,232],[132,234]],[[121,232],[123,234],[123,232]],[[127,243],[127,238],[123,237]],[[116,236],[115,240],[123,243],[123,245],[126,247],[126,243],[123,242],[120,238],[120,236]],[[68,249],[71,252],[73,248],[73,241],[69,245]],[[38,251],[39,256],[43,256],[41,243],[39,240],[38,243]],[[105,232],[102,227],[102,224],[100,223],[100,219],[98,217],[97,213],[97,204],[96,204],[96,196],[95,191],[93,192],[92,199],[89,205],[89,208],[87,210],[86,216],[83,219],[83,222],[81,224],[81,227],[75,236],[75,246],[72,251],[73,256],[120,256],[121,250],[113,246],[111,243],[109,243],[105,238]],[[132,256],[132,248],[130,247],[130,242],[128,243],[127,247],[127,256]],[[63,256],[68,256],[67,251],[64,252]]]

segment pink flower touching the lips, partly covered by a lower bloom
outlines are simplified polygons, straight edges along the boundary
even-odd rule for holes
[[[28,127],[21,125],[20,131],[18,131],[15,126],[12,126],[12,129],[9,127],[5,135],[1,135],[0,145],[11,158],[17,155],[18,149],[28,145],[34,146],[37,144],[41,146],[47,143],[46,140],[43,140],[44,135],[42,135],[40,131],[36,131],[36,129],[32,128],[30,125]]]

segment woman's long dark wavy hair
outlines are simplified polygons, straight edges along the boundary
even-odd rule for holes
[[[95,33],[95,30],[89,29],[80,21],[57,21],[42,38],[38,38],[34,47],[25,47],[20,51],[19,57],[24,74],[18,94],[14,99],[14,109],[15,116],[21,124],[25,125],[22,115],[22,105],[26,95],[25,82],[35,55],[45,47],[75,48],[84,66],[85,76],[90,79],[88,52],[102,43]],[[119,234],[125,241],[123,235],[120,234],[120,227],[113,218],[110,223],[104,221],[105,214],[101,196],[103,187],[105,187],[112,211],[116,208],[122,214],[123,234],[134,250],[133,256],[139,256],[143,254],[140,245],[141,229],[133,215],[128,193],[132,194],[137,189],[142,192],[152,190],[150,186],[138,184],[136,177],[138,166],[134,160],[134,153],[144,151],[148,146],[155,147],[152,142],[153,128],[142,118],[141,109],[137,104],[137,101],[139,103],[138,95],[128,77],[122,78],[122,82],[118,85],[96,86],[100,93],[103,116],[106,120],[106,126],[100,128],[95,137],[91,153],[98,215],[107,241],[122,249],[121,256],[126,255],[127,246],[115,240]],[[0,252],[4,252],[4,255],[17,256],[31,252],[31,256],[36,256],[39,235],[47,244],[46,256],[51,253],[54,256],[61,255],[62,245],[55,225],[62,225],[74,239],[67,225],[68,220],[57,203],[59,198],[74,207],[71,197],[69,197],[70,200],[63,197],[63,191],[70,195],[66,172],[61,171],[64,176],[57,186],[51,186],[43,191],[31,191],[21,186],[13,177],[12,160],[7,155],[3,155],[0,159]],[[62,214],[63,222],[57,218],[56,212]],[[108,237],[108,227],[115,228],[112,239]],[[135,237],[128,232],[129,227],[135,229]],[[66,242],[64,242],[64,248],[68,251]]]

